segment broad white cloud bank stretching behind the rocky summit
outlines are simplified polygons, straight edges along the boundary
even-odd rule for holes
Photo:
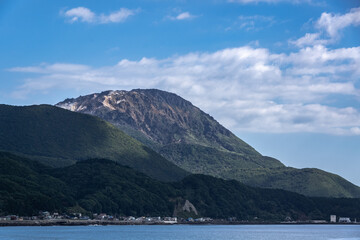
[[[192,101],[234,131],[359,135],[360,110],[336,102],[360,96],[359,65],[360,47],[314,46],[276,54],[244,46],[165,59],[123,59],[98,68],[56,63],[10,70],[39,75],[14,94],[159,88]]]

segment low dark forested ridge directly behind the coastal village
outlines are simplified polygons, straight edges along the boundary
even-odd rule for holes
[[[105,159],[89,159],[51,168],[0,152],[0,215],[107,213],[120,216],[193,215],[239,220],[356,218],[360,199],[308,198],[283,190],[259,189],[238,181],[190,175],[165,183]],[[185,203],[196,208],[188,213]],[[178,207],[180,206],[180,208]],[[175,211],[176,210],[176,211]]]

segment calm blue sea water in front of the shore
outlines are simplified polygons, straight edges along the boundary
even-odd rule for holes
[[[174,225],[1,227],[0,239],[100,240],[360,240],[357,225]]]

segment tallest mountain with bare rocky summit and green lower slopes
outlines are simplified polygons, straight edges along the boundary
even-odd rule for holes
[[[105,91],[56,106],[98,116],[191,173],[236,179],[307,196],[360,197],[360,188],[318,169],[262,156],[189,101],[156,89]]]

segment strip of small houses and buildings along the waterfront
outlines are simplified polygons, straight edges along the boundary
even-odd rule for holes
[[[36,216],[0,216],[0,226],[51,226],[51,225],[166,225],[166,224],[360,224],[357,219],[330,215],[329,220],[292,221],[287,217],[284,221],[268,222],[254,218],[253,221],[238,220],[236,217],[212,219],[209,217],[115,217],[105,213],[92,216],[81,213],[59,214],[41,211]]]

